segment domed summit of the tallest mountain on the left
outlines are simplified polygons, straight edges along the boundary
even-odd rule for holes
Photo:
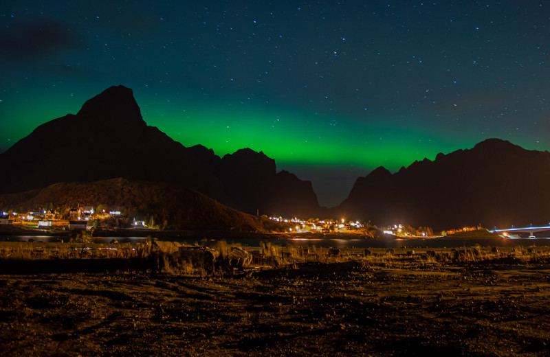
[[[113,86],[87,100],[80,108],[78,117],[93,118],[94,124],[107,126],[146,126],[140,106],[133,91],[124,86]]]

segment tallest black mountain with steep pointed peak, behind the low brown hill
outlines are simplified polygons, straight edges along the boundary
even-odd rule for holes
[[[76,115],[36,128],[0,155],[1,192],[58,182],[115,177],[181,183],[223,198],[212,168],[155,127],[147,126],[131,89],[111,87]]]

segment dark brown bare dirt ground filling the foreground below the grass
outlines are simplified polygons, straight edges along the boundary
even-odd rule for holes
[[[443,262],[420,253],[371,249],[225,277],[4,274],[0,355],[550,354],[548,248]]]

